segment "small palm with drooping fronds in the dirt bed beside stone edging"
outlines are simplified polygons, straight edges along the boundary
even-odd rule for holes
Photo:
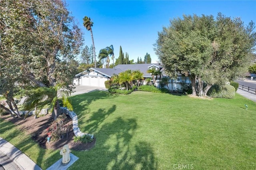
[[[64,107],[68,107],[71,111],[73,110],[68,95],[70,92],[67,89],[62,88],[59,85],[54,87],[39,87],[29,91],[28,97],[24,102],[24,109],[32,110],[34,108],[42,108],[47,104],[50,104],[50,110],[52,112],[52,119],[56,119],[60,115],[60,102]]]

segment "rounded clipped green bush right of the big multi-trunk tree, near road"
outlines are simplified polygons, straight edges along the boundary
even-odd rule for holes
[[[212,98],[234,98],[236,90],[233,86],[225,84],[224,86],[212,86],[207,95]]]

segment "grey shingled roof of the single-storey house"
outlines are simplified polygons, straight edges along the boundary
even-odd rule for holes
[[[140,72],[143,73],[144,77],[151,77],[150,73],[147,72],[149,68],[152,66],[162,69],[163,67],[158,63],[149,63],[149,64],[119,64],[115,66],[115,68],[90,68],[90,71],[98,72],[104,76],[112,77],[114,74],[119,74],[120,72],[124,72],[126,70],[140,70]],[[86,71],[76,74],[76,76],[79,76],[83,73],[88,73]]]

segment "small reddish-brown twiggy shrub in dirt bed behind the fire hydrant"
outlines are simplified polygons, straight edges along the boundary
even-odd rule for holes
[[[48,135],[51,136],[52,141],[63,139],[64,135],[68,133],[69,127],[64,126],[64,121],[67,119],[65,114],[59,115],[48,127]]]

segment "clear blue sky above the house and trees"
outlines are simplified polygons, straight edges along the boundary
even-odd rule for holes
[[[213,15],[218,12],[234,18],[240,17],[247,25],[256,22],[256,1],[87,1],[66,0],[72,16],[84,31],[85,45],[92,45],[90,31],[83,27],[83,18],[88,16],[94,22],[92,32],[96,55],[100,49],[114,46],[115,59],[122,51],[129,54],[129,59],[144,60],[149,53],[152,63],[158,61],[153,44],[158,38],[158,31],[170,24],[170,19],[185,15]],[[110,63],[112,61],[110,60]]]

